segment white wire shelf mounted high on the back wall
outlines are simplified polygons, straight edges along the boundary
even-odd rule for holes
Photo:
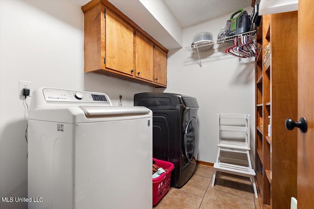
[[[213,41],[201,42],[193,46],[187,46],[185,47],[185,50],[189,51],[191,54],[195,54],[202,51],[208,51],[208,50],[219,49],[219,48],[223,48],[227,46],[233,46],[235,37],[240,38],[243,35],[252,35],[252,37],[254,37],[256,36],[256,30],[237,34],[234,36],[228,36],[226,38],[217,39]]]

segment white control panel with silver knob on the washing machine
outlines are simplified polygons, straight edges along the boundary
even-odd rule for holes
[[[43,90],[46,101],[50,102],[83,102],[103,103],[110,105],[110,100],[105,93],[73,91],[63,89],[45,88]]]

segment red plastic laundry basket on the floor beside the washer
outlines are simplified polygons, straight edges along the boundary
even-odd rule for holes
[[[171,171],[173,170],[174,165],[173,163],[157,160],[155,158],[153,158],[153,161],[156,162],[158,167],[168,169],[165,173],[153,179],[153,206],[156,206],[170,189]]]

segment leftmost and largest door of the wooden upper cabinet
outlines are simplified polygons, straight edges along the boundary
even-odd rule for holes
[[[105,18],[105,67],[126,74],[134,69],[133,28],[109,10]]]

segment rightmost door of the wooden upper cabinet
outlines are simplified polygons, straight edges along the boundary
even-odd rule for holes
[[[155,45],[154,82],[167,85],[167,53]]]

